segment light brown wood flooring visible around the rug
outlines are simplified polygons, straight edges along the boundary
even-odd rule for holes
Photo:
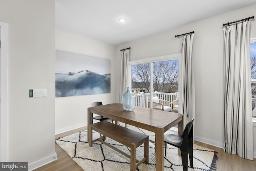
[[[55,138],[58,139],[59,137],[71,135],[72,133],[76,133],[84,129],[87,129],[87,127],[58,134]],[[216,162],[217,171],[256,171],[256,159],[251,161],[242,159],[238,155],[229,155],[228,153],[224,153],[222,148],[214,147],[198,141],[195,141],[195,144],[218,151],[218,161]],[[79,167],[57,144],[55,144],[55,151],[57,153],[58,160],[35,169],[34,171],[83,171],[83,169],[81,169],[81,167]]]

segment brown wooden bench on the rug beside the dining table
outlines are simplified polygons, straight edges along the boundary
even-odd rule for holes
[[[135,171],[136,168],[144,161],[148,163],[148,139],[149,139],[148,135],[139,133],[137,131],[128,129],[126,127],[122,127],[122,126],[110,123],[108,121],[93,123],[90,125],[90,127],[92,130],[97,131],[98,133],[101,133],[104,135],[103,137],[94,139],[92,142],[100,141],[101,143],[104,143],[108,147],[118,151],[122,155],[130,158],[131,171]],[[130,147],[130,155],[103,141],[106,137],[109,137],[110,139],[113,139],[127,147]],[[144,158],[138,161],[136,159],[136,148],[142,145],[143,143],[144,143]]]

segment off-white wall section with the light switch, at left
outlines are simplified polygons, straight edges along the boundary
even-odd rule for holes
[[[55,1],[0,0],[8,23],[7,160],[29,169],[54,160]],[[47,97],[29,98],[29,89]]]

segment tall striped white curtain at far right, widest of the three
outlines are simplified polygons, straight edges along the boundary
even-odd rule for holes
[[[224,32],[224,151],[253,160],[250,21]]]

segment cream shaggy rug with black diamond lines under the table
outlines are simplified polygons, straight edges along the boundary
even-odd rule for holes
[[[154,141],[154,133],[137,127],[128,125],[128,128],[140,131],[149,135]],[[100,137],[100,134],[93,132],[93,139]],[[112,139],[107,138],[106,142],[114,147],[130,153],[130,149]],[[129,171],[130,159],[114,151],[110,147],[96,141],[92,147],[89,147],[87,141],[87,130],[56,139],[56,143],[85,171]],[[199,145],[193,145],[193,164],[194,169],[188,168],[189,171],[212,171],[216,170],[216,160],[218,159],[216,151]],[[157,152],[157,151],[156,151]],[[136,149],[136,159],[144,157],[144,146]],[[154,171],[155,170],[155,146],[149,144],[149,162],[142,163],[137,171]],[[188,159],[188,166],[189,159]],[[164,157],[165,171],[182,171],[182,160],[178,155],[178,149],[172,145],[167,145],[167,155]]]

